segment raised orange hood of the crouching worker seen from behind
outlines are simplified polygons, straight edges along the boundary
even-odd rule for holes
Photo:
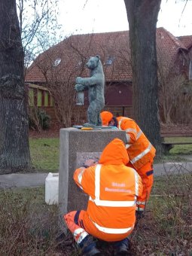
[[[113,139],[102,151],[99,163],[102,164],[124,164],[129,162],[125,145],[120,139]]]

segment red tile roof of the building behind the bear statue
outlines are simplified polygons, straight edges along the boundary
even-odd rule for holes
[[[157,52],[168,62],[172,62],[179,49],[187,50],[184,37],[181,38],[175,38],[166,29],[158,28]],[[47,72],[49,78],[70,78],[75,83],[76,76],[88,75],[85,63],[87,58],[96,54],[101,56],[106,81],[132,81],[129,44],[128,31],[71,35],[35,59],[26,72],[26,82],[44,83],[43,71]],[[113,65],[106,64],[109,57]],[[53,67],[56,59],[61,61],[58,66]]]

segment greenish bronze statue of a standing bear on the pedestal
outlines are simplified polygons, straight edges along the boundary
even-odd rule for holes
[[[75,84],[77,92],[88,90],[90,104],[87,109],[88,123],[84,123],[83,126],[102,126],[100,112],[105,106],[105,76],[99,55],[91,56],[86,66],[90,69],[90,78],[77,77]]]

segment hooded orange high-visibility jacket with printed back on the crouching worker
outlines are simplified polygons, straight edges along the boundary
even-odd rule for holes
[[[142,195],[142,180],[135,169],[126,166],[129,157],[120,139],[114,139],[102,152],[99,164],[76,169],[75,182],[87,193],[84,227],[105,241],[117,241],[133,231],[136,200]]]

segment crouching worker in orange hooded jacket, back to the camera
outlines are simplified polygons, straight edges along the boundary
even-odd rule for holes
[[[112,140],[102,151],[99,163],[87,160],[75,170],[74,180],[89,201],[87,211],[64,215],[67,227],[84,255],[99,255],[93,237],[114,242],[114,255],[128,252],[136,222],[136,200],[142,195],[142,179],[126,166],[129,157],[120,139]]]

